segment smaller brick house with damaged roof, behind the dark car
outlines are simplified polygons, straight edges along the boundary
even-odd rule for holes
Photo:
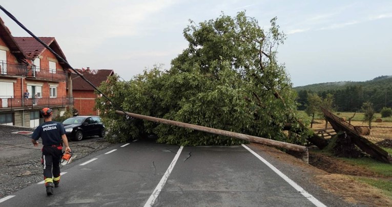
[[[99,87],[102,82],[108,81],[108,78],[114,75],[113,70],[100,69],[90,70],[90,68],[78,69],[86,79],[95,87]],[[94,110],[95,99],[98,97],[94,93],[94,88],[77,74],[72,74],[72,94],[74,97],[74,108],[79,115],[99,115],[99,111]]]

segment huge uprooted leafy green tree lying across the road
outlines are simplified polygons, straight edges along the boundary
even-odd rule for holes
[[[193,123],[205,127],[261,136],[291,143],[302,136],[286,136],[283,129],[307,133],[298,121],[295,92],[284,65],[277,62],[277,47],[285,36],[276,18],[264,30],[254,18],[239,12],[220,15],[183,31],[188,48],[171,62],[171,68],[145,70],[129,81],[118,76],[100,90],[122,110]],[[189,145],[232,145],[240,139],[178,128],[115,114],[111,103],[96,100],[109,133],[123,141],[156,134],[158,142]],[[111,137],[111,136],[110,136]]]

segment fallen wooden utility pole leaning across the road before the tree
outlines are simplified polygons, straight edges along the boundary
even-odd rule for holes
[[[307,147],[299,146],[297,144],[286,143],[283,141],[276,141],[276,140],[272,140],[272,139],[266,139],[266,138],[262,138],[262,137],[240,134],[240,133],[230,132],[230,131],[225,131],[225,130],[220,130],[220,129],[214,129],[214,128],[210,128],[210,127],[192,125],[191,123],[184,123],[184,122],[172,121],[172,120],[163,119],[163,118],[156,118],[156,117],[152,117],[152,116],[133,114],[133,113],[129,113],[129,112],[122,112],[122,111],[116,110],[116,113],[121,114],[121,115],[126,114],[126,115],[128,115],[130,117],[134,117],[134,118],[145,119],[145,120],[159,122],[159,123],[166,123],[167,125],[173,125],[173,126],[177,126],[177,127],[189,128],[189,129],[198,130],[198,131],[202,131],[202,132],[208,132],[208,133],[212,133],[212,134],[234,137],[234,138],[243,139],[243,140],[247,140],[247,141],[251,141],[251,142],[261,143],[261,144],[264,144],[264,145],[270,146],[270,147],[284,148],[286,150],[299,153],[300,154],[299,158],[302,159],[304,162],[308,163],[308,161],[309,161],[309,153],[308,153]]]

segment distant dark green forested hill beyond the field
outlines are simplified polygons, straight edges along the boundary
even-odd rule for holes
[[[372,102],[377,112],[383,107],[392,108],[392,76],[379,76],[363,82],[326,82],[295,87],[294,90],[298,92],[301,110],[305,109],[309,93],[317,93],[321,97],[332,94],[337,111],[359,111],[365,101]]]

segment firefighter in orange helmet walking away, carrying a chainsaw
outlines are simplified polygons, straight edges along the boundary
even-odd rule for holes
[[[68,146],[68,139],[63,125],[52,121],[52,110],[44,108],[40,111],[45,122],[39,125],[31,136],[34,147],[38,146],[37,140],[42,139],[42,164],[44,168],[44,179],[46,194],[53,194],[53,187],[58,187],[60,182],[60,161],[63,155],[63,143],[66,152],[71,152]],[[63,140],[63,141],[61,141]]]

